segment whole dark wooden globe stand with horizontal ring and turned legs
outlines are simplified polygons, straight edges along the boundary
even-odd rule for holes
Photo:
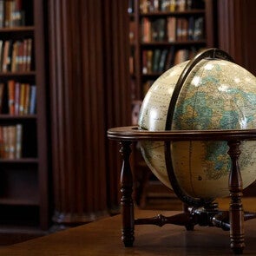
[[[256,218],[256,213],[244,213],[242,206],[242,178],[239,167],[240,141],[256,140],[256,130],[212,130],[212,131],[161,131],[149,132],[135,127],[111,128],[108,138],[121,142],[121,240],[124,246],[133,246],[135,240],[135,225],[174,224],[193,230],[195,225],[217,226],[230,231],[230,246],[235,254],[241,254],[245,247],[244,221]],[[133,175],[129,163],[130,145],[133,141],[226,141],[228,154],[232,161],[229,181],[226,186],[230,191],[229,211],[220,211],[217,204],[203,202],[201,207],[188,206],[184,213],[165,217],[159,214],[153,218],[136,219],[134,217]],[[170,161],[168,159],[167,161]],[[169,172],[167,167],[167,172]],[[176,193],[174,191],[174,193]],[[179,193],[177,194],[179,197]],[[181,196],[181,200],[184,198]]]

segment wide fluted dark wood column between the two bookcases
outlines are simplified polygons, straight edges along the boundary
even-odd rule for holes
[[[95,220],[118,203],[120,158],[106,132],[130,119],[127,8],[122,2],[49,0],[57,223]]]

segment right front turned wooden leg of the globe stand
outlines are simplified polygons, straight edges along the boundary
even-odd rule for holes
[[[232,168],[229,175],[229,191],[231,202],[229,207],[230,218],[230,241],[233,253],[241,254],[245,247],[245,232],[244,232],[244,211],[241,201],[243,182],[240,174],[239,156],[240,156],[240,141],[229,141],[229,151],[232,161]]]

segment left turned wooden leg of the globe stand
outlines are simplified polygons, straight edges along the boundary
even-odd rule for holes
[[[135,240],[134,202],[132,199],[133,175],[129,164],[130,144],[131,141],[121,141],[120,150],[123,157],[121,167],[121,240],[127,247],[133,246]]]

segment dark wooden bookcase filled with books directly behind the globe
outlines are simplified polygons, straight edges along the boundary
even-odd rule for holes
[[[141,102],[154,80],[200,49],[216,46],[215,4],[213,0],[128,0],[133,125],[137,125]],[[145,205],[147,195],[143,193],[150,194],[150,184],[156,181],[148,178],[141,154],[135,156],[135,163],[142,184],[138,189],[142,191],[141,205]],[[168,194],[165,188],[163,191]]]

